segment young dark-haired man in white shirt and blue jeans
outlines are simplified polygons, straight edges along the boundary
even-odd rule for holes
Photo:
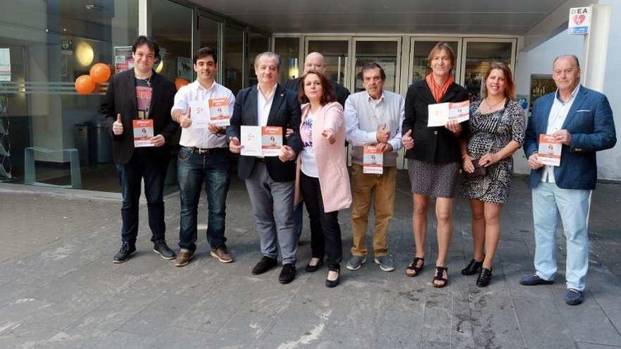
[[[172,119],[181,125],[181,140],[179,140],[181,149],[177,166],[179,195],[181,195],[181,227],[180,251],[175,259],[177,267],[188,264],[196,250],[198,200],[203,183],[209,207],[206,235],[211,247],[210,255],[222,263],[233,262],[225,245],[227,238],[224,237],[230,180],[226,128],[217,127],[212,122],[203,125],[205,118],[201,118],[210,114],[210,101],[226,104],[219,106],[222,109],[219,113],[221,116],[231,116],[233,112],[235,97],[231,90],[215,82],[217,70],[215,51],[209,47],[199,49],[194,55],[194,71],[197,78],[191,84],[179,89],[171,110]],[[192,106],[198,110],[193,110]]]

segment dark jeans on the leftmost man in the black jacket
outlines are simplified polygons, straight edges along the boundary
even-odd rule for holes
[[[168,158],[159,159],[147,153],[148,149],[135,149],[127,164],[116,164],[121,183],[123,206],[121,207],[121,239],[134,244],[138,236],[138,209],[140,208],[140,183],[145,180],[145,197],[149,212],[151,241],[165,241],[164,233],[164,179]]]

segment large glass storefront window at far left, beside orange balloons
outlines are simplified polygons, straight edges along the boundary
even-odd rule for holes
[[[114,67],[114,48],[133,44],[138,0],[13,1],[4,11],[0,180],[118,191],[99,114],[107,85],[78,95],[73,83],[95,63]]]

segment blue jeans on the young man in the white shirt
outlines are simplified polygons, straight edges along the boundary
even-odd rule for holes
[[[177,161],[177,179],[181,195],[181,228],[179,247],[196,250],[198,200],[205,183],[207,195],[207,242],[212,250],[226,247],[224,243],[224,219],[227,216],[227,193],[230,173],[227,151],[215,154],[196,154],[181,147]]]

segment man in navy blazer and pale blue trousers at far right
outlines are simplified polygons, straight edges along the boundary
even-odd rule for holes
[[[587,220],[591,190],[597,182],[596,152],[615,146],[613,110],[606,97],[579,84],[576,56],[559,56],[553,62],[557,91],[537,99],[529,118],[524,152],[531,167],[535,274],[524,276],[526,286],[554,282],[557,271],[555,231],[558,216],[567,242],[567,293],[565,302],[584,299],[589,268]],[[562,143],[560,166],[544,165],[538,158],[539,135],[552,135]]]

